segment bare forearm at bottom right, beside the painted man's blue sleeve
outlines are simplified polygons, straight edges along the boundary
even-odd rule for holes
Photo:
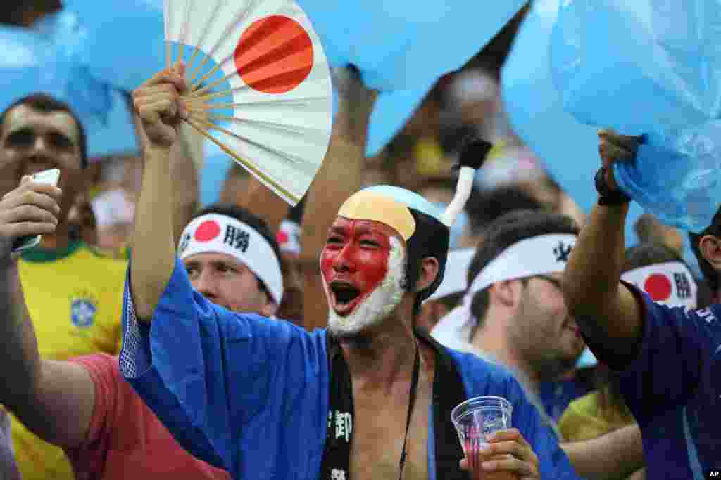
[[[638,425],[598,438],[562,443],[576,474],[585,480],[624,479],[643,468],[643,445]]]

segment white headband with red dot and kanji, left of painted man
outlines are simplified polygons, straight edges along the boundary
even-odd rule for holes
[[[198,253],[225,253],[245,264],[280,304],[283,273],[273,247],[255,228],[226,215],[211,213],[193,219],[180,237],[181,260]]]

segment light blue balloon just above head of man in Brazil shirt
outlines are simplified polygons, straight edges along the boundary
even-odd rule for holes
[[[89,156],[136,151],[127,100],[78,62],[83,34],[76,17],[68,12],[47,17],[32,29],[1,27],[0,110],[23,96],[50,94],[66,101],[81,119]]]

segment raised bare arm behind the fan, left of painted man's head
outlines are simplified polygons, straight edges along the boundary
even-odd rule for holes
[[[334,84],[338,112],[328,153],[306,196],[301,234],[304,271],[304,325],[309,330],[325,327],[328,303],[323,291],[318,255],[328,229],[348,196],[361,188],[366,159],[368,118],[376,93],[363,86],[358,71],[337,69]]]

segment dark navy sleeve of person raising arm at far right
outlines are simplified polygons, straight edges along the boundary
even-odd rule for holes
[[[642,302],[643,337],[637,358],[617,373],[629,409],[637,422],[645,425],[694,394],[702,359],[709,358],[709,333],[704,332],[705,322],[696,312],[657,304],[626,285]]]

